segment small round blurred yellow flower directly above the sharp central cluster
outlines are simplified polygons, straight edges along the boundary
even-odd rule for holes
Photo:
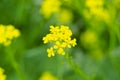
[[[73,19],[73,14],[71,11],[63,9],[59,14],[58,19],[61,23],[70,23]]]

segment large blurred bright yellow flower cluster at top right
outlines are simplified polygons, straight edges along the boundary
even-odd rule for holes
[[[86,0],[86,7],[89,8],[88,10],[84,10],[84,14],[86,18],[100,18],[105,22],[109,22],[110,14],[108,10],[104,8],[104,1],[103,0]]]

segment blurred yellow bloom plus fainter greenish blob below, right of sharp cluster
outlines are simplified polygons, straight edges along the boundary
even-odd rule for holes
[[[100,40],[98,39],[98,35],[96,34],[96,32],[94,32],[92,30],[87,30],[80,36],[80,39],[81,39],[82,45],[85,47],[85,49],[88,50],[89,54],[94,59],[102,59],[103,58],[103,51],[100,48],[101,47],[99,45]]]

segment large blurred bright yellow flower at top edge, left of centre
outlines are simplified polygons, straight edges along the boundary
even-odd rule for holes
[[[52,14],[60,11],[60,6],[59,0],[44,0],[40,12],[48,19]]]

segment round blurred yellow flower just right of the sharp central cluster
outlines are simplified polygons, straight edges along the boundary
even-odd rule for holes
[[[81,35],[81,42],[86,46],[96,44],[97,36],[93,31],[88,30]]]

